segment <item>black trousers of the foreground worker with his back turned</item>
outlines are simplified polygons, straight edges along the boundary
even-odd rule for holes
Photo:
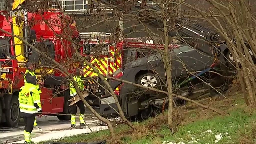
[[[21,113],[21,116],[24,117],[24,130],[26,132],[31,133],[34,128],[34,121],[36,118],[36,114],[27,114],[27,113]]]

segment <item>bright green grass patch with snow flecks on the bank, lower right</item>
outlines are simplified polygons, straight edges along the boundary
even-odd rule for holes
[[[219,143],[239,143],[239,138],[242,135],[248,134],[253,127],[253,121],[256,118],[256,114],[249,115],[244,113],[243,110],[235,110],[230,113],[230,116],[217,116],[211,120],[199,120],[191,124],[180,126],[178,131],[174,134],[171,133],[169,128],[162,126],[157,132],[160,135],[164,135],[163,138],[158,138],[159,141],[169,142],[184,142],[196,140],[198,143],[215,143],[215,135],[223,134],[223,138]],[[204,133],[211,130],[213,133]],[[148,137],[132,142],[131,144],[153,144],[155,142],[154,137]],[[256,143],[255,139],[254,142]]]

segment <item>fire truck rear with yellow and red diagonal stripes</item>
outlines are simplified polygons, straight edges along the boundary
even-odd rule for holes
[[[82,45],[79,49],[80,54],[86,57],[104,76],[111,76],[121,67],[122,62],[122,52],[115,46],[115,42],[110,41],[111,36],[111,33],[80,33],[80,44]],[[89,66],[85,66],[84,76],[96,78],[98,74],[93,72]],[[118,94],[118,90],[119,88],[116,88],[116,94]]]

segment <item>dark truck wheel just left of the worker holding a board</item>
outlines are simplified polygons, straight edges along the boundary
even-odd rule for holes
[[[68,107],[68,105],[71,103],[68,101],[70,98],[69,91],[64,92],[64,108],[63,112],[60,114],[71,114],[71,109]],[[57,115],[59,120],[69,121],[71,119],[70,115]]]

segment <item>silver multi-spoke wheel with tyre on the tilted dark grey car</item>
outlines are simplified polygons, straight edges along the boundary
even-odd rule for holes
[[[152,88],[155,88],[158,85],[160,85],[159,83],[160,83],[160,81],[159,81],[158,77],[152,73],[140,75],[138,77],[138,82],[137,82],[137,84],[140,84],[140,85],[143,85],[146,87],[152,87]]]

